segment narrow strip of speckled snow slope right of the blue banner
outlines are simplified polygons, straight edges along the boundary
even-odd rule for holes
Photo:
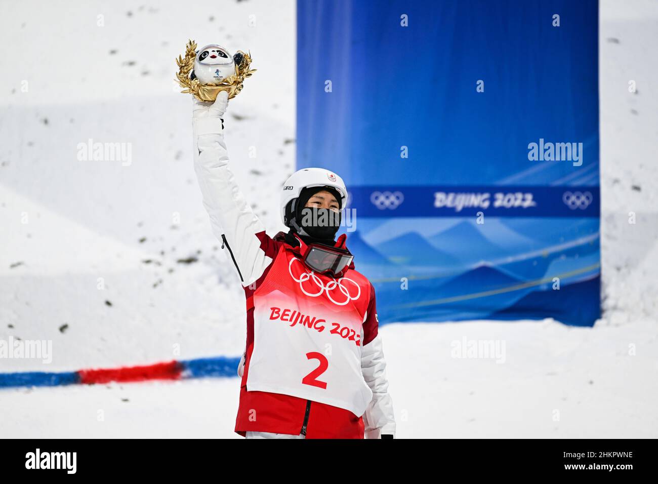
[[[602,1],[600,22],[601,323],[656,321],[658,4]]]

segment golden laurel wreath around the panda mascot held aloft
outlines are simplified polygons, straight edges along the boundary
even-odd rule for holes
[[[251,77],[251,74],[256,72],[256,69],[250,68],[251,55],[238,51],[242,54],[242,61],[240,64],[236,63],[236,73],[228,76],[219,84],[201,84],[198,79],[190,79],[190,72],[194,67],[194,58],[196,57],[197,43],[193,40],[188,40],[188,45],[185,47],[185,57],[178,56],[176,64],[178,65],[178,74],[176,79],[180,87],[184,88],[182,93],[190,93],[199,101],[215,101],[217,95],[222,92],[228,92],[228,99],[232,99],[238,95],[242,90],[242,83],[245,78]]]

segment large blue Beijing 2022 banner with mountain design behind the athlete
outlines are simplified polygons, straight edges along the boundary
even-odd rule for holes
[[[297,165],[379,319],[600,313],[596,0],[299,0]]]

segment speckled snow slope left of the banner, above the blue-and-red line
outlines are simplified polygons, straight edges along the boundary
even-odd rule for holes
[[[188,37],[220,40],[266,74],[226,124],[236,177],[276,230],[270,200],[294,167],[293,3],[86,2],[68,28],[50,21],[63,2],[0,9],[4,45],[42,59],[0,59],[13,72],[0,80],[0,338],[53,340],[48,371],[240,354],[243,292],[201,205],[174,57]],[[89,139],[130,144],[131,159],[79,161]]]

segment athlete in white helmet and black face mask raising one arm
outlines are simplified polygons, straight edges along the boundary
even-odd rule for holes
[[[393,439],[372,284],[336,238],[347,189],[320,168],[286,180],[274,237],[229,168],[228,95],[195,101],[194,166],[213,232],[228,250],[247,301],[247,341],[236,433],[247,438]]]

